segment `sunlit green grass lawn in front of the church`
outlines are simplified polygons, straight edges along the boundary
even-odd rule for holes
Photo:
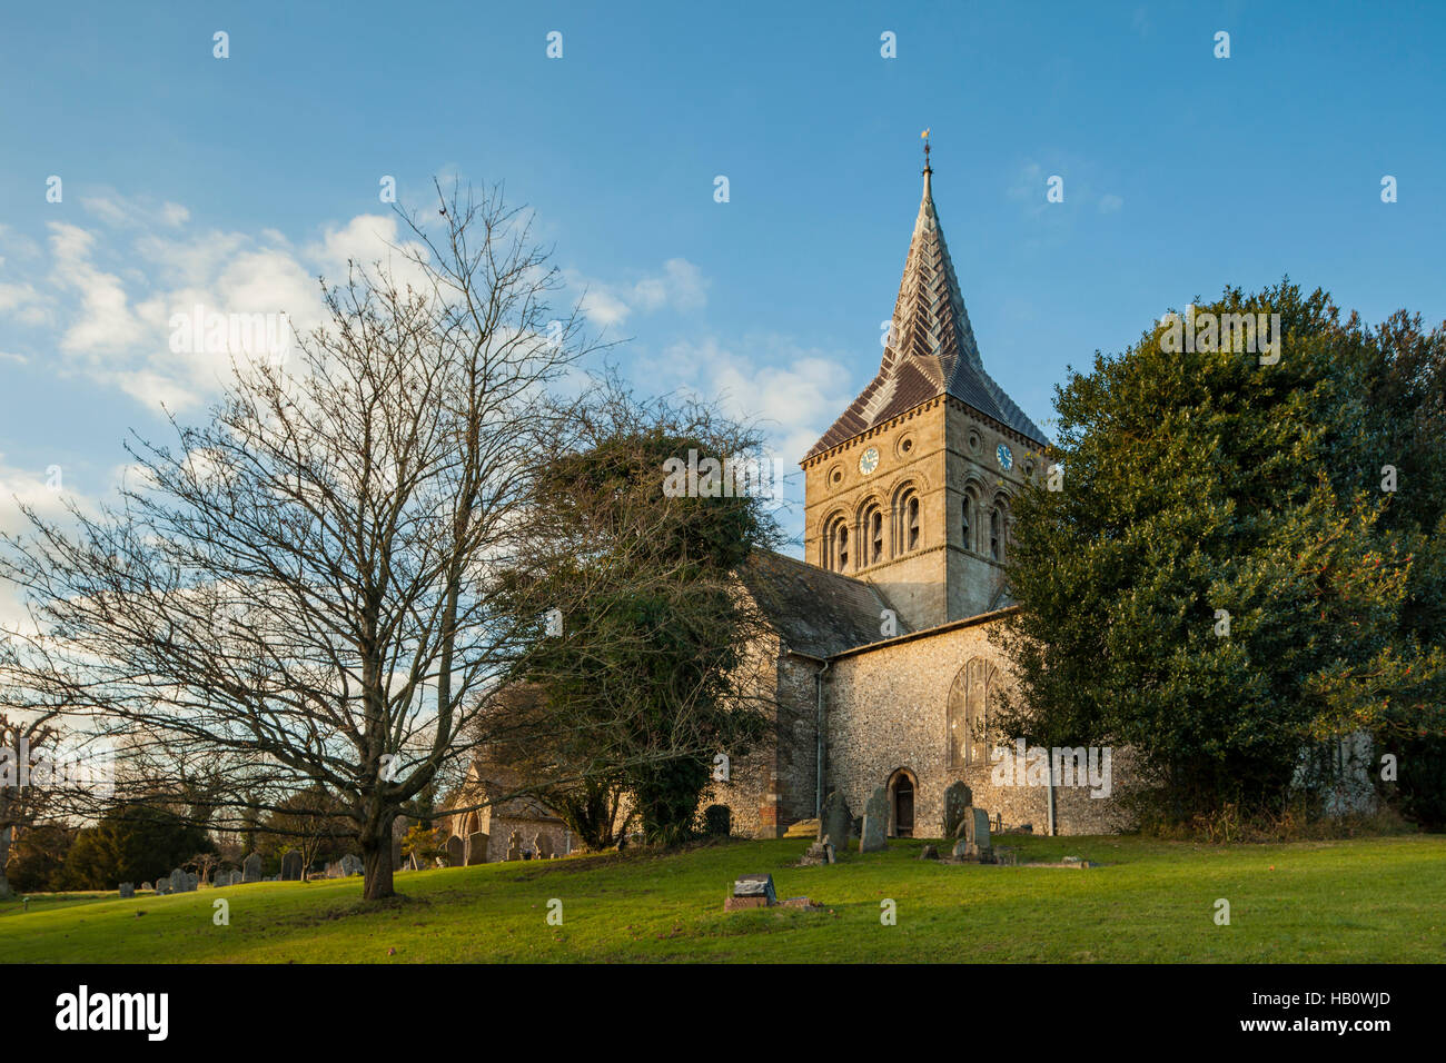
[[[580,856],[398,875],[405,901],[363,905],[360,879],[270,882],[133,901],[48,895],[0,905],[6,962],[1443,962],[1446,837],[1205,846],[1137,837],[1009,837],[1021,861],[951,866],[920,842],[795,868],[805,840]],[[821,913],[723,913],[737,875]],[[1215,901],[1231,902],[1216,926]],[[230,926],[213,902],[230,902]],[[548,926],[548,902],[562,926]],[[897,902],[882,926],[881,901]],[[145,913],[143,915],[140,913]],[[395,949],[395,955],[389,950]]]

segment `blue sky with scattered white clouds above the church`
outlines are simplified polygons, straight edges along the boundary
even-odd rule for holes
[[[985,364],[1038,422],[1066,366],[1225,283],[1446,317],[1442,6],[201,7],[3,16],[3,526],[54,464],[103,496],[162,398],[201,417],[165,317],[304,318],[385,230],[382,175],[505,179],[639,388],[726,393],[790,466],[878,367],[925,126]]]

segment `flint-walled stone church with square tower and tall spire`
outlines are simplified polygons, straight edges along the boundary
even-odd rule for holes
[[[1108,784],[1031,785],[988,730],[1009,683],[989,633],[1014,609],[1011,499],[1048,476],[1047,441],[985,372],[931,179],[925,161],[879,370],[801,461],[803,561],[768,552],[740,573],[774,632],[774,726],[714,785],[733,833],[777,837],[834,790],[859,816],[884,787],[891,836],[938,837],[954,781],[1004,829],[1128,826]]]

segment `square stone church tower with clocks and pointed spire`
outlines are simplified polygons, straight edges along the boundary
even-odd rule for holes
[[[1009,499],[1044,434],[985,372],[924,198],[878,376],[804,457],[804,560],[875,584],[899,633],[1006,605]]]

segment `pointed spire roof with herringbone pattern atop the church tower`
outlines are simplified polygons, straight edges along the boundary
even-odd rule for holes
[[[938,227],[931,175],[925,165],[924,198],[914,221],[879,373],[813,445],[805,461],[940,395],[951,395],[1035,443],[1045,443],[1044,432],[985,372]]]

